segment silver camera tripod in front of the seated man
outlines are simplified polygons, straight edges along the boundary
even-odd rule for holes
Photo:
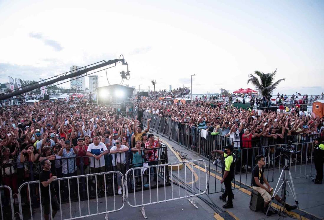
[[[280,155],[279,155],[280,156]],[[278,157],[279,157],[278,156]],[[274,159],[273,159],[274,160]],[[289,174],[289,178],[290,178],[290,181],[288,181],[286,179],[286,171],[288,172]],[[281,185],[279,186],[279,182],[281,181],[281,179],[283,179],[283,182],[281,183]],[[296,191],[295,191],[295,186],[294,186],[294,182],[293,182],[293,178],[291,177],[291,173],[290,173],[290,169],[289,169],[289,165],[288,165],[288,155],[284,154],[284,167],[283,167],[283,170],[281,171],[281,174],[280,174],[280,177],[278,179],[278,182],[277,182],[277,185],[276,185],[276,188],[274,189],[273,191],[273,195],[272,195],[272,198],[271,198],[271,202],[269,203],[268,205],[268,210],[266,212],[266,215],[268,214],[269,212],[269,208],[272,204],[272,201],[274,199],[274,196],[277,195],[277,193],[279,192],[280,188],[282,188],[282,192],[283,192],[283,195],[282,195],[282,198],[281,198],[281,204],[283,205],[283,208],[284,208],[284,205],[286,203],[286,185],[289,186],[289,189],[294,197],[294,200],[295,200],[295,204],[297,205],[297,209],[298,209],[298,214],[299,214],[299,219],[301,220],[302,217],[300,215],[300,210],[299,210],[299,205],[298,205],[298,201],[297,201],[297,196],[296,196]],[[279,187],[278,187],[279,186]]]

